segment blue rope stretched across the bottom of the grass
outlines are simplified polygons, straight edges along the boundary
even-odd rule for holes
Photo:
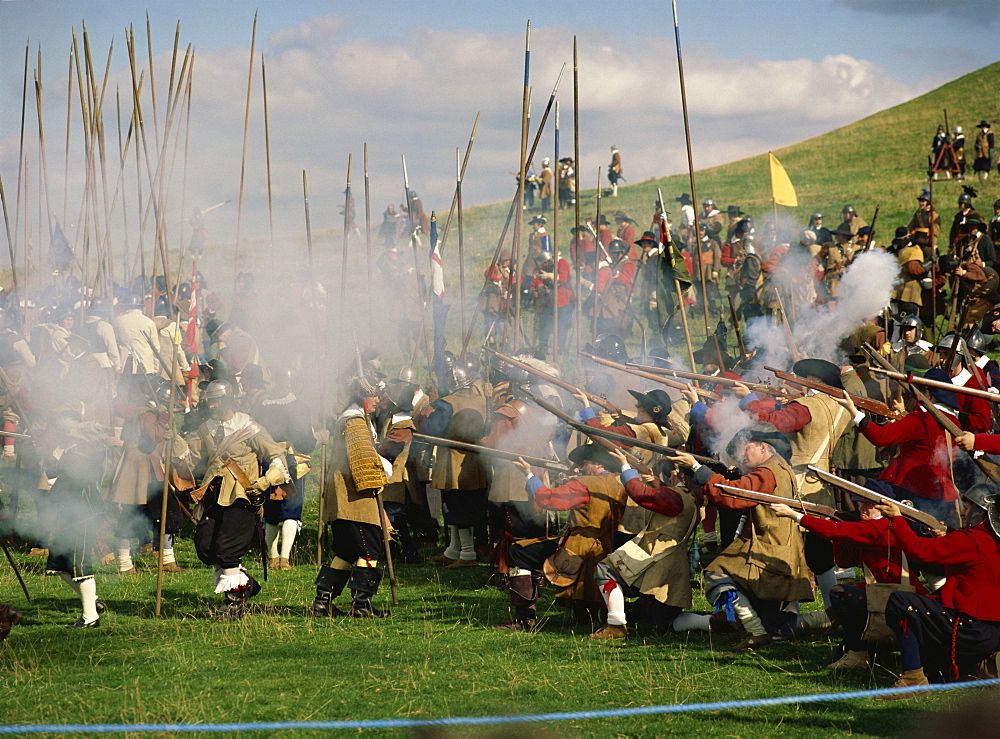
[[[737,708],[763,708],[789,703],[827,703],[830,701],[857,700],[883,695],[905,695],[927,691],[960,690],[1000,685],[1000,678],[968,680],[959,683],[936,685],[911,685],[905,688],[878,690],[852,690],[844,693],[812,693],[786,695],[774,698],[754,698],[719,703],[681,703],[666,706],[641,706],[638,708],[613,708],[601,711],[564,711],[560,713],[531,713],[523,716],[454,716],[435,719],[369,719],[361,721],[267,721],[246,724],[21,724],[0,726],[0,734],[100,734],[122,732],[175,732],[198,731],[306,731],[310,729],[407,729],[422,726],[483,726],[490,724],[515,724],[541,721],[577,721],[581,719],[624,718],[628,716],[653,716],[667,713],[697,713],[701,711],[730,711]]]

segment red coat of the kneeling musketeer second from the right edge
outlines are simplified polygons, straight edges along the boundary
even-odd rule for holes
[[[865,564],[875,577],[875,582],[899,582],[903,573],[902,549],[892,535],[890,519],[830,521],[807,515],[799,523],[809,531],[833,541],[837,564],[841,567]],[[926,593],[923,583],[913,571],[913,563],[910,562],[909,565],[910,584],[923,595]]]

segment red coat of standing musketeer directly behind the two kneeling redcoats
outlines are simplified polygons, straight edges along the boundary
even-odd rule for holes
[[[951,478],[951,463],[958,448],[934,416],[923,408],[897,421],[879,426],[865,420],[861,433],[875,446],[899,445],[899,452],[879,475],[893,485],[922,498],[952,501],[958,490]]]

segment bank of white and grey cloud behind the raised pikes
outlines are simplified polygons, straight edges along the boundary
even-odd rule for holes
[[[579,50],[580,172],[585,186],[593,187],[597,168],[607,165],[612,143],[622,151],[630,181],[686,169],[672,39],[649,35],[609,44],[606,34],[589,32],[579,36]],[[335,206],[343,197],[349,152],[354,155],[353,186],[363,223],[365,142],[371,158],[374,222],[386,203],[401,199],[401,154],[407,156],[411,186],[420,192],[425,207],[446,210],[455,181],[455,148],[464,150],[477,112],[482,119],[464,185],[465,202],[513,195],[514,179],[508,173],[517,168],[523,37],[417,27],[403,38],[376,41],[353,37],[348,18],[315,18],[266,39],[258,37],[245,238],[266,238],[267,233],[261,52],[267,64],[279,234],[302,233],[303,169],[309,173],[314,228],[338,226]],[[248,57],[247,48],[197,52],[187,209],[234,199],[210,224],[212,238],[235,234]],[[572,32],[568,27],[535,29],[533,129],[564,62],[570,63],[559,90],[561,153],[566,155],[572,153]],[[162,91],[169,57],[157,64]],[[713,46],[695,45],[685,48],[685,70],[699,168],[793,143],[922,92],[847,54],[818,62],[727,59]],[[124,100],[129,99],[126,74],[119,72]],[[61,166],[53,164],[61,159],[56,156],[60,147],[52,142],[60,137],[56,122],[60,116],[65,120],[65,103],[59,99],[64,89],[64,79],[47,81],[54,192],[61,192]],[[550,119],[538,159],[552,151],[552,124]],[[75,149],[79,159],[81,151]],[[5,176],[16,172],[16,153],[15,138],[0,141]],[[179,171],[176,178],[174,205],[180,200]]]

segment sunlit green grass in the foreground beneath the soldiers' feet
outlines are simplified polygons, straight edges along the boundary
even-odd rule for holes
[[[589,627],[553,605],[551,588],[539,604],[538,633],[496,632],[489,627],[507,620],[507,598],[488,586],[486,566],[449,572],[402,565],[400,605],[389,619],[317,619],[309,614],[315,499],[305,515],[295,569],[272,573],[246,618],[231,624],[209,621],[220,596],[211,592],[210,572],[195,559],[189,539],[177,550],[190,570],[165,575],[159,618],[153,615],[155,560],[144,559],[140,576],[101,568],[98,593],[108,612],[99,629],[86,630],[64,628],[79,615],[79,601],[61,580],[43,576],[40,558],[19,552],[33,602],[24,602],[10,568],[0,567],[2,599],[26,617],[0,644],[0,724],[513,715],[836,692],[894,681],[894,656],[873,673],[825,670],[838,639],[821,632],[736,657],[727,656],[734,642],[729,635],[631,633],[625,644],[594,643]],[[260,576],[259,562],[248,567]],[[389,605],[387,582],[376,605]],[[700,596],[696,607],[707,608]],[[900,735],[929,712],[969,698],[968,692],[938,693],[894,703],[523,724],[496,733]]]

